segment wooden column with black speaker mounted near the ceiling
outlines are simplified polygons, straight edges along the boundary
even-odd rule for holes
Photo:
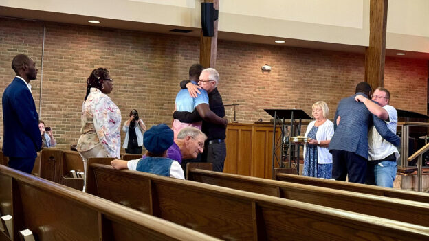
[[[219,9],[219,0],[205,0],[205,3],[213,3],[214,9]],[[202,16],[201,16],[202,17]],[[201,30],[201,43],[199,49],[199,63],[203,67],[214,68],[216,66],[216,51],[217,51],[217,22],[214,21],[214,36],[205,37],[203,36],[203,30]]]

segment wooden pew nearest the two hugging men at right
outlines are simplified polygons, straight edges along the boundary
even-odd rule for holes
[[[413,192],[399,190],[390,187],[377,187],[374,185],[364,185],[360,183],[348,183],[344,181],[335,181],[327,179],[316,179],[309,176],[298,176],[281,173],[281,168],[276,171],[276,180],[290,183],[300,183],[317,187],[328,187],[338,190],[360,192],[363,194],[373,194],[377,196],[386,196],[390,198],[401,198],[404,200],[413,200],[421,203],[429,203],[429,195],[423,192]]]

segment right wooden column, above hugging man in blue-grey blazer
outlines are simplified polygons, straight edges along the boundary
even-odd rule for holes
[[[384,85],[386,23],[388,0],[371,0],[369,47],[365,51],[365,82],[373,89]]]

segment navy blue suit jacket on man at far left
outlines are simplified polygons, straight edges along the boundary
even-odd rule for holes
[[[42,147],[39,115],[27,85],[15,77],[3,93],[3,154],[36,158]]]

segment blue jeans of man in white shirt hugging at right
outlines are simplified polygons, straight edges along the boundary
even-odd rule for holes
[[[369,161],[366,169],[366,184],[380,187],[393,187],[397,171],[396,161],[380,161],[371,163]]]

